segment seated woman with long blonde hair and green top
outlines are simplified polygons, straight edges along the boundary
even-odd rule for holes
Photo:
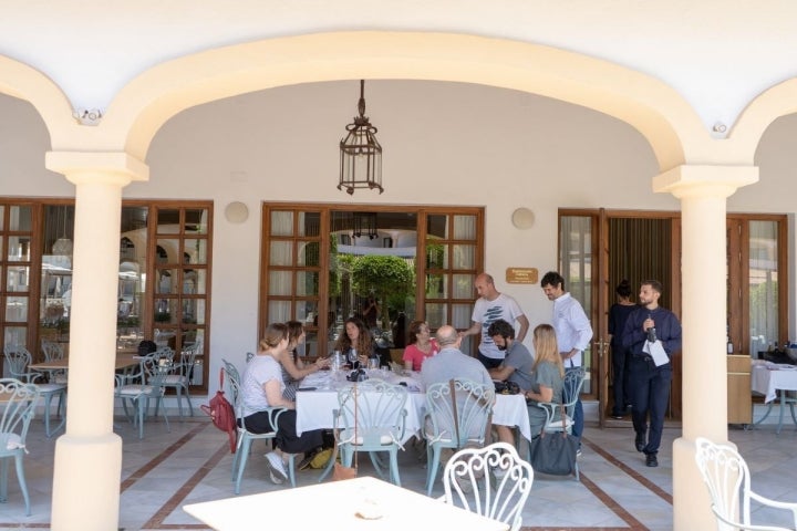
[[[531,389],[526,392],[531,436],[536,437],[545,427],[546,412],[537,404],[540,402],[561,403],[565,386],[565,366],[556,331],[550,324],[540,324],[534,331],[535,363],[531,366]]]

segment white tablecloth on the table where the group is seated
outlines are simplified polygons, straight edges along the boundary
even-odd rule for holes
[[[318,375],[318,376],[317,376]],[[390,379],[390,377],[387,378]],[[413,389],[417,383],[414,375],[401,377],[406,382],[407,388]],[[345,385],[342,377],[332,378],[329,372],[314,373],[302,382],[297,393],[297,433],[302,434],[311,429],[332,429],[334,420],[332,412],[338,407],[338,387]],[[302,388],[317,387],[314,391],[301,391]],[[414,435],[421,433],[423,419],[426,415],[426,395],[412,392],[405,407],[406,429],[404,440],[407,441]],[[493,407],[493,424],[510,426],[520,430],[526,439],[531,438],[526,399],[521,395],[497,395],[496,404]]]

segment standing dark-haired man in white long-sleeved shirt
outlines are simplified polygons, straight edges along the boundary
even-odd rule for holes
[[[565,278],[556,271],[548,271],[540,281],[542,292],[549,301],[553,301],[553,330],[557,334],[559,354],[562,357],[565,371],[580,367],[582,353],[592,340],[592,326],[587,314],[576,299],[565,291]],[[581,434],[583,433],[583,406],[581,397],[576,403],[573,412],[572,435],[579,438],[581,451]]]

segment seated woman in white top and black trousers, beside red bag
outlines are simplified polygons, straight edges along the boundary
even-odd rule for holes
[[[277,448],[266,454],[269,476],[275,483],[288,479],[286,454],[312,451],[322,445],[321,430],[304,431],[301,436],[296,431],[296,403],[282,396],[284,382],[278,360],[288,348],[288,326],[282,323],[269,324],[259,348],[252,360],[247,363],[241,378],[241,397],[244,399],[244,425],[253,434],[265,434],[275,429],[271,426],[268,407],[284,407],[277,420]]]

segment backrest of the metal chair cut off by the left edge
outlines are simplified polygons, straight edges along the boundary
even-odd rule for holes
[[[0,456],[24,448],[28,426],[39,400],[39,387],[15,378],[0,378],[6,407],[0,414]]]

